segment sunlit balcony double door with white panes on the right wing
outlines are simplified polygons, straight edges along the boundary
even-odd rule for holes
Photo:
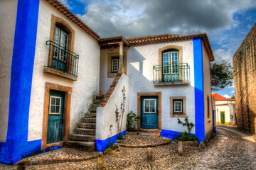
[[[169,50],[162,55],[163,81],[179,81],[178,50]]]

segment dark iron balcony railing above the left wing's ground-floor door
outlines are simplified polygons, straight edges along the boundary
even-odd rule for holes
[[[68,50],[66,47],[56,44],[48,40],[46,45],[49,45],[48,66],[52,69],[57,69],[60,72],[78,77],[78,60],[79,56]]]

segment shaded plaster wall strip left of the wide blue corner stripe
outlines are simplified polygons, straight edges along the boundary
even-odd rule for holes
[[[6,142],[9,117],[11,61],[18,0],[0,1],[0,142]]]

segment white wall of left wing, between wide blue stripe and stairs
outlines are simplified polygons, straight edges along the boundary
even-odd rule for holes
[[[74,52],[79,55],[78,81],[72,81],[53,74],[43,73],[43,67],[48,64],[51,15],[63,18],[75,30]],[[100,84],[100,47],[96,40],[76,26],[46,1],[40,1],[38,14],[38,33],[36,37],[36,54],[33,67],[31,89],[31,105],[28,120],[28,141],[42,138],[43,106],[45,84],[50,82],[62,86],[73,87],[70,107],[70,131],[82,118],[92,101],[92,95],[97,94]]]

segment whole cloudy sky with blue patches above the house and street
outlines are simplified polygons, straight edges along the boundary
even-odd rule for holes
[[[256,22],[256,0],[59,0],[101,37],[207,33],[215,62],[232,57]],[[234,87],[217,92],[229,97]]]

